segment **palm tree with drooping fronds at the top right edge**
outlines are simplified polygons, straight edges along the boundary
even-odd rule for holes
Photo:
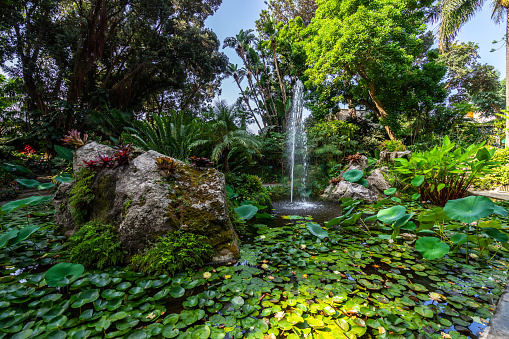
[[[458,34],[461,26],[482,9],[484,0],[440,0],[438,2],[439,44],[443,50]],[[493,14],[491,18],[500,23],[506,18],[505,28],[505,102],[509,109],[509,1],[492,0]],[[505,148],[509,148],[509,117],[505,120]]]

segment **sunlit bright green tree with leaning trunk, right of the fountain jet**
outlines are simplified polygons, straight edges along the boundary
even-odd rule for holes
[[[430,1],[318,0],[315,20],[308,26],[307,74],[315,84],[342,82],[364,89],[373,112],[390,139],[394,115],[387,110],[381,85],[412,67],[423,49]]]

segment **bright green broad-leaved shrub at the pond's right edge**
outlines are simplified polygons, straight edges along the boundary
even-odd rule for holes
[[[417,187],[422,200],[444,206],[448,200],[463,198],[474,180],[497,164],[491,161],[493,154],[484,142],[462,149],[446,136],[430,151],[414,153],[410,160],[395,159],[395,170]]]

